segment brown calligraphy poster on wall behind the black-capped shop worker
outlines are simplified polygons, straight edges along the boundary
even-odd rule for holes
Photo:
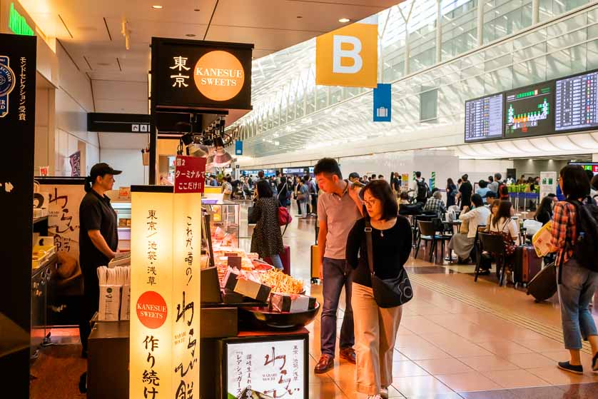
[[[50,184],[40,180],[39,191],[48,198],[48,232],[58,251],[79,258],[79,205],[85,190],[81,184]]]

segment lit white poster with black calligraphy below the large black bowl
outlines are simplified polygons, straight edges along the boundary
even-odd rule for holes
[[[228,399],[307,398],[304,344],[305,340],[228,343]]]

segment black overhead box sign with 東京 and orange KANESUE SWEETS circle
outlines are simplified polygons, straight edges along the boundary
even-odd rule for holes
[[[156,108],[251,109],[253,44],[152,38]]]

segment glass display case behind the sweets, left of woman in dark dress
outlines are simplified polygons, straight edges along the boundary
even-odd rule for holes
[[[240,203],[203,198],[201,204],[210,216],[212,246],[239,246]]]

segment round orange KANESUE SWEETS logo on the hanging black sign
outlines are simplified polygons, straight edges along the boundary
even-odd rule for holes
[[[245,82],[240,61],[227,51],[210,51],[203,55],[193,71],[197,89],[208,99],[226,101],[233,99]]]

